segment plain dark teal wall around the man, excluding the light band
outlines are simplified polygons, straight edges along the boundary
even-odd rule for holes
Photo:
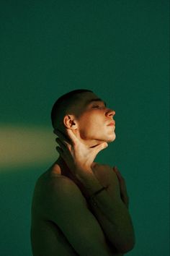
[[[117,165],[127,183],[136,234],[127,255],[169,255],[169,1],[0,5],[0,130],[53,132],[55,99],[94,90],[116,111],[117,139],[97,159]],[[1,255],[30,256],[32,191],[52,162],[47,156],[13,168],[10,157],[0,171]]]

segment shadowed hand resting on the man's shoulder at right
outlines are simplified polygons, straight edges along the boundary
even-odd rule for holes
[[[117,169],[116,166],[113,168],[113,171],[115,171],[115,174],[117,174],[117,178],[120,183],[120,196],[122,198],[122,201],[125,203],[126,207],[128,208],[129,207],[129,197],[128,197],[128,192],[126,189],[125,179],[122,177],[122,175],[120,174],[120,171]]]

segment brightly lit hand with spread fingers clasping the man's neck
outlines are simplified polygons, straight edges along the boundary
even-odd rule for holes
[[[93,148],[89,148],[89,146],[84,145],[84,143],[74,135],[71,129],[66,129],[68,138],[58,129],[55,130],[55,134],[58,135],[56,142],[60,145],[56,150],[75,175],[77,171],[90,171],[97,153],[107,148],[107,142],[102,142]]]

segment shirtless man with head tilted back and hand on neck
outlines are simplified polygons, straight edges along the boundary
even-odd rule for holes
[[[115,140],[114,116],[91,90],[73,90],[53,105],[59,157],[35,185],[34,256],[120,256],[133,249],[125,179],[116,166],[94,162]]]

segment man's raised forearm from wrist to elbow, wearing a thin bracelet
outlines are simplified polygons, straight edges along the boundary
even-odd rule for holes
[[[81,182],[93,195],[102,185],[93,175],[81,176]],[[91,210],[99,221],[105,236],[117,249],[118,252],[128,252],[134,245],[133,224],[126,208],[120,197],[110,197],[107,190],[97,194],[89,200]]]

